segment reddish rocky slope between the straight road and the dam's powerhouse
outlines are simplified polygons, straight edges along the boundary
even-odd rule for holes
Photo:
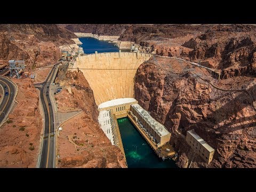
[[[55,100],[67,103],[83,112],[62,124],[58,138],[59,167],[123,167],[122,152],[112,146],[110,140],[100,129],[99,111],[93,91],[81,71],[68,71],[65,83],[71,86],[71,93],[63,90]],[[63,108],[60,108],[63,109]]]

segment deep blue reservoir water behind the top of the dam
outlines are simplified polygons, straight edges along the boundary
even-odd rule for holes
[[[98,53],[119,51],[114,43],[108,43],[108,41],[99,41],[92,37],[82,37],[79,40],[83,43],[80,46],[83,47],[85,54],[95,53],[95,51],[98,51]]]

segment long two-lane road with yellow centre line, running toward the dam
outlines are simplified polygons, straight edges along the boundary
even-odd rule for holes
[[[43,145],[40,155],[40,168],[54,168],[55,167],[55,125],[54,125],[54,110],[50,99],[50,86],[55,78],[55,71],[58,64],[54,65],[50,74],[46,78],[40,90],[40,98],[44,111],[44,135]],[[48,92],[48,93],[47,93]],[[50,105],[49,105],[50,103]]]

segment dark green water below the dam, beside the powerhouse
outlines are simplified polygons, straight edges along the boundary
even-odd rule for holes
[[[177,167],[172,159],[158,158],[146,140],[137,131],[129,118],[117,119],[129,168],[165,168]]]

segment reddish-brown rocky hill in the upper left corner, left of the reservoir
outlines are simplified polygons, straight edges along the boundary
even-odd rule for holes
[[[25,60],[28,70],[53,64],[61,57],[58,46],[74,44],[76,35],[57,25],[0,25],[0,60]]]

